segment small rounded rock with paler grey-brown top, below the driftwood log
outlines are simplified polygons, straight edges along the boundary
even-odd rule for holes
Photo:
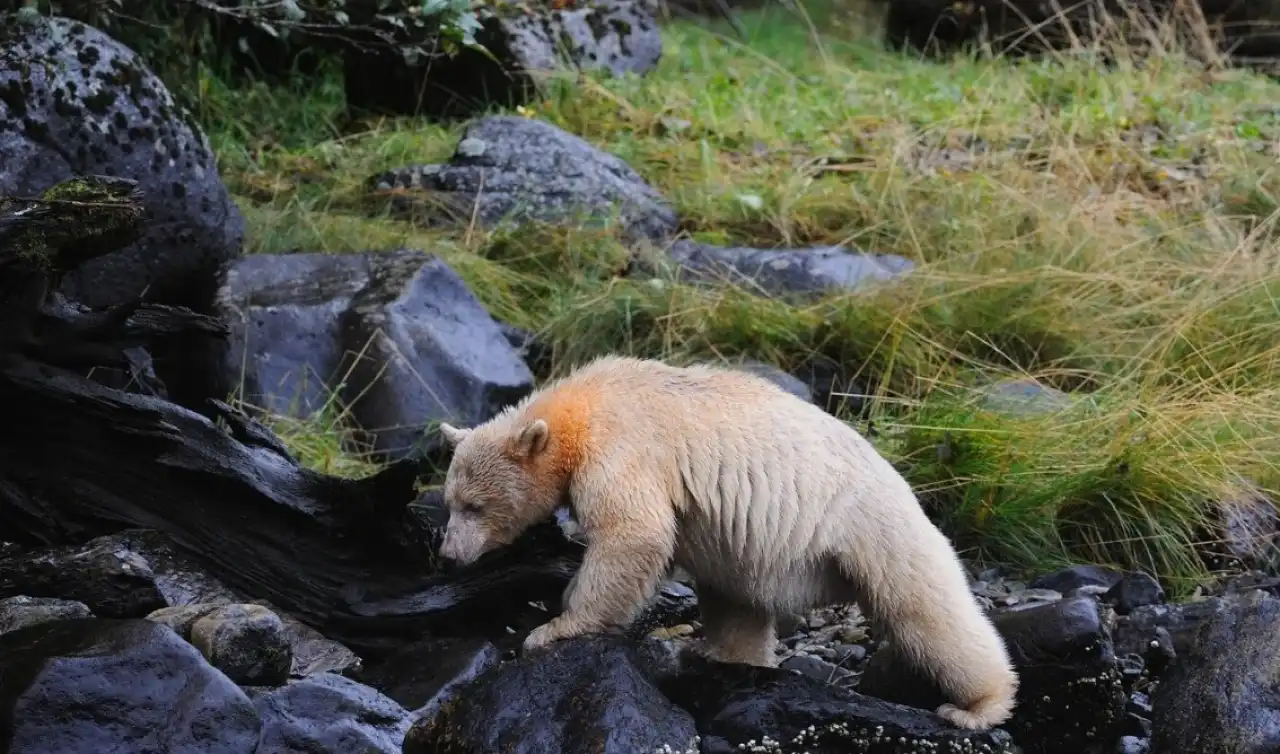
[[[278,686],[289,680],[293,649],[284,623],[262,606],[215,608],[191,625],[191,643],[242,686]]]

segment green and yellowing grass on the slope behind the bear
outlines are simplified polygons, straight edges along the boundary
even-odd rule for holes
[[[835,358],[968,557],[1140,566],[1175,593],[1202,579],[1215,502],[1277,477],[1280,86],[1172,52],[927,63],[856,10],[824,12],[820,38],[780,9],[742,19],[746,44],[672,23],[650,76],[557,81],[529,114],[627,160],[695,238],[895,252],[920,265],[904,282],[788,305],[618,278],[604,230],[388,219],[362,182],[447,159],[462,127],[340,134],[334,76],[287,92],[206,74],[197,116],[253,252],[438,252],[550,343],[557,374],[604,352]],[[1034,416],[974,401],[1007,376],[1088,399]],[[289,426],[314,462],[358,465]]]

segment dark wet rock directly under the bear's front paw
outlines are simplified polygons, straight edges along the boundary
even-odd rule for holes
[[[586,636],[525,654],[413,723],[404,754],[685,751],[694,721],[654,686],[654,644]]]

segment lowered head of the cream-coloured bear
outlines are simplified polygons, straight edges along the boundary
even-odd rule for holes
[[[503,417],[506,419],[506,417]],[[490,421],[472,429],[440,425],[453,447],[444,477],[449,524],[440,557],[466,566],[484,553],[506,547],[563,495],[563,480],[550,472],[547,421]]]

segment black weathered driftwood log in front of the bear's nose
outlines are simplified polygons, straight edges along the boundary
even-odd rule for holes
[[[137,234],[137,200],[132,182],[100,177],[0,200],[5,539],[56,545],[155,529],[227,586],[365,653],[422,634],[509,638],[512,602],[554,609],[580,552],[553,522],[440,574],[444,512],[416,492],[421,460],[329,476],[232,406],[211,401],[215,422],[166,401],[163,385],[148,390],[142,375],[137,389],[91,379],[96,369],[137,373],[127,351],[156,339],[227,337],[182,307],[90,311],[55,293],[60,274]]]

